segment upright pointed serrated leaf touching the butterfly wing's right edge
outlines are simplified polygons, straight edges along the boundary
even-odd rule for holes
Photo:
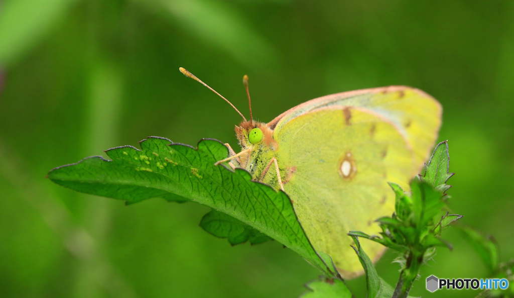
[[[450,173],[450,154],[448,148],[448,141],[437,144],[428,164],[425,165],[423,180],[427,181],[432,187],[445,184],[454,175],[454,173]],[[443,188],[443,193],[450,187],[450,185],[446,185]]]

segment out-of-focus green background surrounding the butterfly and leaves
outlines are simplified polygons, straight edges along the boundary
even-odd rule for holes
[[[318,271],[277,242],[230,247],[208,208],[131,206],[44,179],[149,135],[236,148],[241,120],[183,66],[269,121],[318,96],[405,84],[444,107],[451,209],[514,255],[514,2],[7,0],[0,4],[0,296],[297,297]],[[105,154],[103,154],[105,156]],[[425,278],[485,277],[451,229]],[[378,263],[394,284],[388,253]],[[348,283],[364,297],[364,279]],[[512,285],[511,285],[512,286]],[[476,293],[446,291],[444,296]]]

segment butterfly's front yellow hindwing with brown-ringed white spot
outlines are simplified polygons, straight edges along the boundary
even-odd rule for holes
[[[382,115],[344,106],[293,117],[273,136],[284,189],[314,248],[332,256],[344,277],[362,271],[346,234],[376,234],[374,220],[393,213],[387,181],[407,186],[416,171],[407,139]],[[383,251],[364,245],[372,259]]]

